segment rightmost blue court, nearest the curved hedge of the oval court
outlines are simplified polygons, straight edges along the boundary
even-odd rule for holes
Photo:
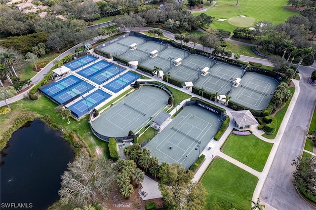
[[[118,91],[124,89],[126,86],[136,81],[138,78],[140,78],[139,75],[128,71],[122,74],[117,79],[113,80],[112,82],[104,85],[103,87],[105,87],[108,90],[111,90],[114,93],[117,93]]]

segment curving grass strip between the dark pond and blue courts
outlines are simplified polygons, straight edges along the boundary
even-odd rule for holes
[[[61,115],[57,114],[54,108],[57,106],[54,102],[41,95],[37,101],[27,101],[20,100],[18,102],[10,104],[11,112],[5,115],[0,115],[0,124],[7,125],[9,123],[14,123],[13,120],[16,117],[23,115],[25,112],[36,112],[39,115],[48,114],[50,118],[57,123],[58,125],[67,128],[70,131],[74,131],[79,134],[79,137],[84,141],[86,146],[91,152],[91,155],[94,155],[95,148],[99,147],[103,149],[106,157],[109,157],[109,151],[107,149],[108,143],[99,140],[95,137],[91,131],[90,124],[88,123],[89,116],[86,116],[84,119],[81,119],[79,122],[70,118],[71,123],[67,124],[67,118],[62,120]],[[2,132],[6,129],[6,126],[0,126],[0,131]]]

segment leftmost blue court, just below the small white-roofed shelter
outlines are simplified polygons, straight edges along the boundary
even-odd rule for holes
[[[50,86],[47,86],[43,89],[41,89],[41,91],[48,95],[48,96],[55,96],[58,93],[62,92],[64,89],[66,88],[70,88],[73,85],[75,85],[76,83],[79,83],[79,81],[81,81],[81,79],[79,79],[78,77],[74,76],[74,75],[70,75]]]

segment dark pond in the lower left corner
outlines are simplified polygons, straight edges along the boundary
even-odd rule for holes
[[[1,151],[1,209],[47,209],[59,200],[60,176],[75,158],[60,131],[40,120],[12,134]]]

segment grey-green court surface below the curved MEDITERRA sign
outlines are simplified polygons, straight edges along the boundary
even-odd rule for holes
[[[198,106],[186,106],[146,147],[159,163],[179,163],[187,170],[217,133],[219,119]]]

